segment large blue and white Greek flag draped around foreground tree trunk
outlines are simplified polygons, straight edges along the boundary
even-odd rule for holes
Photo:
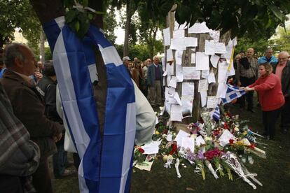
[[[64,115],[81,164],[80,192],[129,192],[136,130],[134,85],[116,48],[90,26],[83,40],[58,17],[43,26],[57,74]],[[106,66],[107,92],[101,139],[92,83],[97,46]]]

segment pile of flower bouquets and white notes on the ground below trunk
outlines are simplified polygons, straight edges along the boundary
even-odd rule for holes
[[[160,155],[164,167],[175,168],[178,178],[182,175],[179,163],[189,162],[203,180],[208,169],[215,179],[233,180],[234,172],[254,189],[256,185],[262,186],[255,178],[257,174],[250,173],[244,164],[247,160],[254,164],[253,154],[265,158],[265,151],[258,148],[257,141],[258,136],[263,136],[251,131],[238,115],[225,113],[218,122],[212,120],[209,112],[201,113],[200,117],[199,122],[188,124],[184,129],[172,127],[165,117],[158,117],[160,122],[156,124],[153,142],[135,147],[134,166],[139,169],[142,169],[140,164],[151,163],[151,166],[153,158]]]

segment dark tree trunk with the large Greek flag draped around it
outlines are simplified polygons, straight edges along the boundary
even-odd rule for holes
[[[46,24],[46,22],[50,22],[51,20],[55,19],[56,17],[63,16],[64,6],[61,0],[29,0],[32,4],[37,16],[41,24]],[[89,6],[94,8],[95,10],[102,10],[102,0],[99,1],[89,1]],[[95,24],[98,27],[103,26],[102,15],[97,15],[95,20],[92,21],[92,24]],[[99,53],[98,48],[96,50],[96,65],[97,65],[97,72],[99,83],[94,85],[95,91],[95,99],[97,101],[97,113],[99,117],[99,126],[100,130],[103,130],[104,127],[104,115],[105,115],[105,106],[106,106],[106,68],[104,66],[104,62],[102,57]]]

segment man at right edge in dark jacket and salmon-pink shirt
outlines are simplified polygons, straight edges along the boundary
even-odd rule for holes
[[[285,104],[281,110],[280,128],[286,134],[290,128],[290,60],[288,52],[280,52],[278,63],[273,66],[274,73],[280,78]]]

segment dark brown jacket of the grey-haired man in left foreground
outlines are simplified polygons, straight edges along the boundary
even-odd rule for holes
[[[53,155],[56,152],[53,136],[58,136],[63,126],[46,117],[43,97],[36,87],[10,70],[5,71],[1,83],[11,101],[15,116],[25,125],[32,141],[39,145],[41,157]]]

